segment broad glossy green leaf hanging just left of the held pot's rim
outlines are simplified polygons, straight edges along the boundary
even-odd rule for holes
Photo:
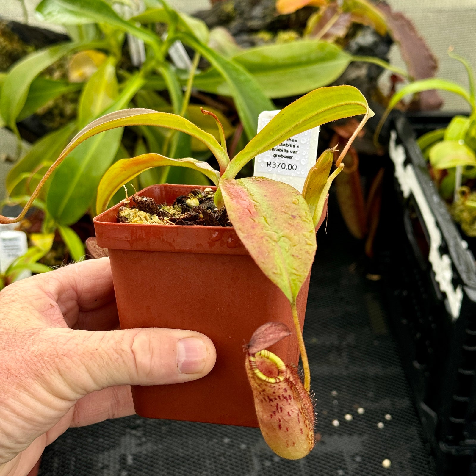
[[[55,172],[46,206],[61,225],[76,223],[89,209],[96,188],[122,138],[122,128],[89,139],[74,149]]]

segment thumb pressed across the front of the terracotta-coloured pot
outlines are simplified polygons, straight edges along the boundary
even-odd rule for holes
[[[51,329],[52,330],[52,329]],[[82,397],[115,385],[163,385],[204,377],[215,365],[212,341],[194,331],[141,328],[114,331],[55,329],[53,381],[58,397]],[[51,353],[51,348],[50,348]],[[67,395],[59,395],[66,391]],[[68,395],[69,394],[69,395]]]

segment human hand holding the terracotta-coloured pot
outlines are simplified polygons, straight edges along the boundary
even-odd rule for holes
[[[115,329],[109,258],[11,284],[0,293],[0,476],[25,476],[69,426],[132,415],[129,385],[208,374],[198,332]]]

